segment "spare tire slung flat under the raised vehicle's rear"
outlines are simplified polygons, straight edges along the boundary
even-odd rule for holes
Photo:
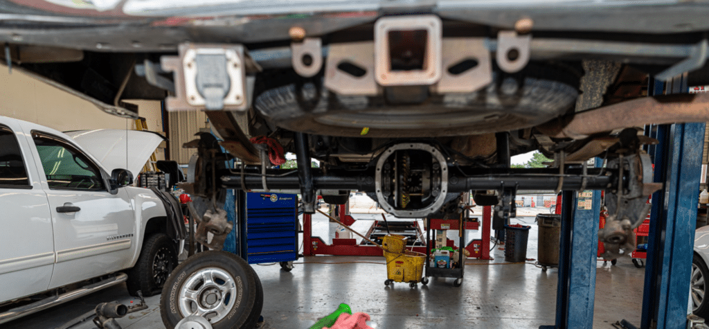
[[[303,79],[292,70],[268,70],[257,77],[253,107],[274,126],[342,138],[361,139],[362,127],[376,127],[367,138],[494,133],[537,126],[569,111],[579,96],[581,72],[552,63],[530,62],[515,74],[493,67],[493,82],[478,91],[394,101],[388,93],[335,94],[323,86],[321,75]]]

